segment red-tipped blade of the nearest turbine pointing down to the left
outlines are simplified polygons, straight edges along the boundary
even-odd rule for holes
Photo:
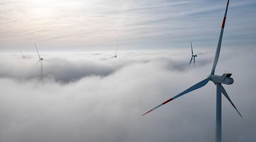
[[[173,97],[173,98],[171,98],[171,99],[168,99],[166,102],[161,103],[160,105],[154,107],[152,110],[150,110],[150,111],[148,111],[148,112],[151,112],[151,111],[155,110],[156,108],[158,108],[158,107],[160,107],[160,106],[163,106],[164,104],[166,104],[166,103],[168,103],[168,102],[170,102],[170,101],[172,101],[172,100],[174,100],[174,99],[180,97],[181,95],[187,94],[187,93],[189,93],[189,92],[191,92],[191,91],[193,91],[193,90],[196,90],[196,89],[199,89],[200,87],[203,87],[204,85],[206,85],[206,84],[208,83],[209,80],[210,80],[210,78],[208,77],[208,78],[206,78],[205,80],[200,81],[199,83],[196,83],[195,85],[189,87],[187,90],[181,92],[180,94],[177,94],[175,97]],[[148,112],[146,112],[145,114],[147,114]],[[143,115],[145,115],[145,114],[143,114]],[[143,116],[143,115],[142,115],[142,116]]]

